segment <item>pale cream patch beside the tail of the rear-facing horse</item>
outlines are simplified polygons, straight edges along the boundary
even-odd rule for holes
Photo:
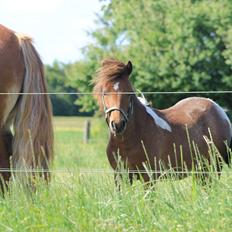
[[[18,86],[13,86],[11,89],[8,91],[10,93],[9,95],[5,95],[5,104],[4,104],[4,114],[3,114],[3,124],[7,121],[7,118],[9,117],[10,112],[14,108],[17,99],[19,97],[20,89]]]

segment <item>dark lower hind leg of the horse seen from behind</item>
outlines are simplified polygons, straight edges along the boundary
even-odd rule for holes
[[[8,187],[8,181],[11,173],[10,169],[10,156],[12,155],[12,134],[10,131],[0,132],[0,168],[5,169],[0,171],[0,188],[4,193],[4,189]]]

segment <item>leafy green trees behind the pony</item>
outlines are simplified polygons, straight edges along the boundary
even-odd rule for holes
[[[140,91],[232,90],[232,1],[111,0],[102,3],[83,58],[46,66],[49,91],[91,92],[104,58],[131,60]],[[192,96],[147,95],[164,108]],[[196,96],[196,94],[195,94]],[[232,94],[210,97],[232,109]],[[92,96],[52,96],[56,115],[93,114]]]

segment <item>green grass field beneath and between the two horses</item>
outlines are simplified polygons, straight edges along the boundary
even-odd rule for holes
[[[15,181],[0,199],[0,231],[231,231],[232,173],[225,168],[211,188],[194,178],[159,181],[155,190],[137,181],[114,187],[105,148],[103,119],[91,119],[88,144],[85,118],[55,118],[56,157],[49,187],[29,193]]]

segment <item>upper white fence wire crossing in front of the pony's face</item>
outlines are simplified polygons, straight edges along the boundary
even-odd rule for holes
[[[140,91],[135,92],[107,92],[108,94],[141,94]],[[101,95],[102,92],[49,92],[49,93],[0,93],[0,95]],[[219,90],[219,91],[146,91],[142,92],[144,95],[150,94],[232,94],[232,90]]]

